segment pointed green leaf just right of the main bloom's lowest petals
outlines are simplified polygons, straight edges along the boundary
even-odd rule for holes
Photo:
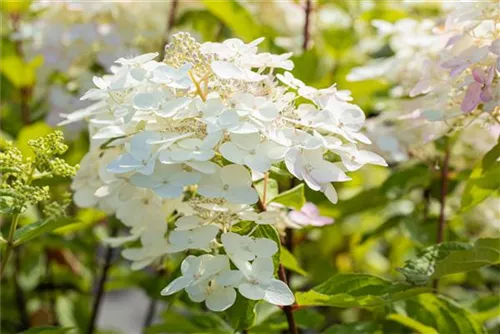
[[[301,306],[372,307],[428,291],[366,274],[337,274],[295,298]]]

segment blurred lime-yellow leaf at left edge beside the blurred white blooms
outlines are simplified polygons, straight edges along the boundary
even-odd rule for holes
[[[35,84],[36,69],[43,63],[43,57],[37,56],[25,63],[15,55],[2,58],[1,73],[17,88],[31,87]]]

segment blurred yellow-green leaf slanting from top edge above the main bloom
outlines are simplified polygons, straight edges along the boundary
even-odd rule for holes
[[[234,35],[246,42],[261,36],[260,26],[255,23],[252,15],[238,1],[202,0],[202,2],[206,9],[232,30]]]

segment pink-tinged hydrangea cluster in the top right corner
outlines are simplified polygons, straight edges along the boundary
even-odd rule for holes
[[[449,38],[439,58],[424,62],[424,76],[410,96],[427,94],[427,100],[455,114],[498,112],[500,104],[500,8],[498,1],[462,3],[451,12],[444,27]]]

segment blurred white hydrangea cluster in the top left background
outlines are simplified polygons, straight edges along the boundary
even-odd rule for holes
[[[87,106],[78,96],[91,88],[92,72],[98,68],[108,68],[123,54],[160,48],[169,7],[169,2],[33,1],[30,9],[36,15],[23,20],[13,37],[23,41],[28,59],[43,56],[35,94],[48,95],[47,121],[61,121],[58,114],[68,106]],[[54,73],[66,78],[65,84],[47,85]]]

